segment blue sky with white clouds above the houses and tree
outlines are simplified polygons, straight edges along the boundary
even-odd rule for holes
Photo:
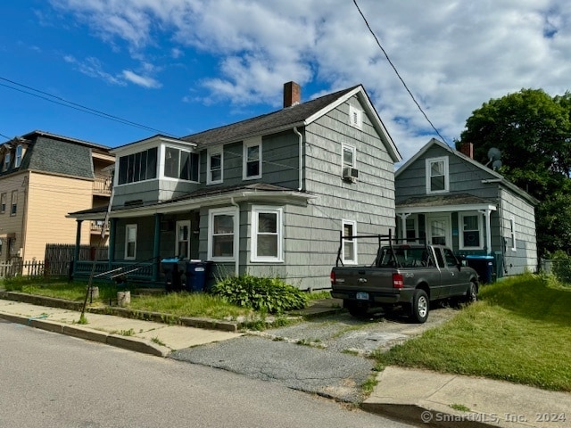
[[[491,98],[571,86],[569,2],[357,4],[449,144]],[[290,80],[304,101],[363,84],[404,161],[436,136],[351,0],[17,0],[0,12],[0,142],[35,129],[112,147],[186,136],[278,110]]]

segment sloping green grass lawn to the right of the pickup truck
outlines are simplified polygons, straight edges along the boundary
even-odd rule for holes
[[[484,285],[447,324],[377,353],[379,367],[469,374],[571,391],[571,287],[531,274]]]

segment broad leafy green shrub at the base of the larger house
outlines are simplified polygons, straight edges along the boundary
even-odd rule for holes
[[[214,284],[212,294],[230,303],[270,314],[286,310],[303,309],[308,296],[298,288],[279,278],[251,275],[230,276]]]

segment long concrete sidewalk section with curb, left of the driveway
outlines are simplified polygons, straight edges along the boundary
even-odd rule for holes
[[[205,343],[220,342],[240,333],[168,325],[134,318],[86,313],[87,324],[79,324],[77,310],[49,308],[11,300],[0,300],[0,318],[30,325],[54,333],[64,333],[127,350],[167,357],[181,350]]]

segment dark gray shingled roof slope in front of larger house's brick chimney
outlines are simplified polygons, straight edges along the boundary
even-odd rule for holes
[[[185,136],[182,139],[204,147],[207,145],[240,141],[248,136],[269,134],[271,131],[275,131],[279,128],[293,127],[296,124],[301,124],[305,119],[310,118],[318,111],[326,108],[327,105],[334,103],[335,100],[348,94],[356,87],[358,86],[352,86],[333,94],[320,96],[306,103],[296,104],[292,107],[263,114],[256,118],[242,120],[241,122],[232,123],[224,127]]]

